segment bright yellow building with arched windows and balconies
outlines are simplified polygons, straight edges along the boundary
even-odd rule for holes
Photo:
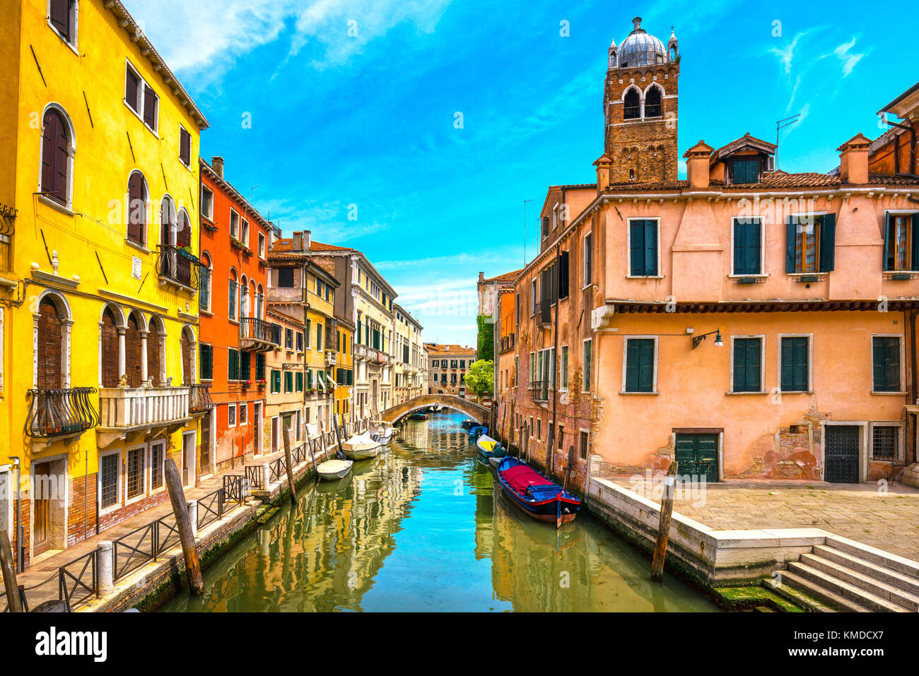
[[[34,562],[167,500],[167,458],[197,480],[207,121],[119,2],[6,3],[0,67],[0,519]]]

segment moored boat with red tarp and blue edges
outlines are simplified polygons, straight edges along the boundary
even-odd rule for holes
[[[554,522],[558,527],[574,521],[581,509],[580,498],[516,457],[503,458],[497,475],[511,501],[538,521]]]

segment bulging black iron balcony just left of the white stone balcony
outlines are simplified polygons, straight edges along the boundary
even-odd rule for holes
[[[29,389],[25,433],[37,445],[55,441],[74,441],[99,423],[90,400],[96,388]]]

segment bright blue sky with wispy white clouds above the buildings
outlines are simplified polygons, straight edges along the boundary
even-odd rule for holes
[[[912,22],[856,3],[125,4],[209,119],[202,156],[222,155],[244,195],[258,186],[285,235],[367,254],[441,343],[474,344],[480,270],[523,264],[523,200],[531,258],[547,186],[596,180],[607,47],[632,17],[664,42],[675,27],[680,154],[771,141],[801,113],[781,166],[826,172],[916,79]]]

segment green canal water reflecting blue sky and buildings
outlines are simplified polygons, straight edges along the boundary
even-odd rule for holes
[[[556,531],[516,511],[459,414],[406,423],[340,484],[302,487],[162,610],[714,611],[582,513]]]

